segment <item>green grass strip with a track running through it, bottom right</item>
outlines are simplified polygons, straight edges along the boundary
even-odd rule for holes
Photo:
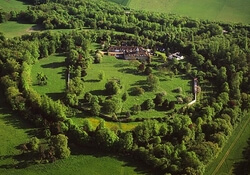
[[[247,146],[247,140],[250,134],[249,113],[237,126],[230,139],[227,141],[223,151],[206,168],[206,175],[224,175],[233,174],[234,164],[243,160],[242,151]],[[220,165],[218,168],[217,166]],[[215,171],[215,169],[217,170]]]

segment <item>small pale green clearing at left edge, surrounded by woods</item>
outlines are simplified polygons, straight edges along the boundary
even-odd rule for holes
[[[6,38],[13,38],[24,34],[31,33],[31,27],[34,24],[21,24],[15,21],[8,21],[6,23],[0,23],[0,32],[2,32]]]

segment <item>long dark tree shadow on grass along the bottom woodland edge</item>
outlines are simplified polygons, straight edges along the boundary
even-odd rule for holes
[[[112,153],[105,153],[101,152],[98,149],[95,148],[80,148],[73,144],[71,145],[71,155],[89,155],[94,156],[96,158],[100,157],[111,157],[114,159],[117,159],[119,161],[124,162],[122,165],[123,167],[134,167],[135,171],[139,174],[145,174],[145,175],[158,175],[159,171],[152,171],[152,169],[149,169],[146,164],[141,162],[140,160],[136,160],[136,158],[128,157],[128,156],[117,156]]]

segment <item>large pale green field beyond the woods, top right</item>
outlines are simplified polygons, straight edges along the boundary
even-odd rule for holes
[[[250,0],[110,0],[136,10],[174,13],[195,19],[250,23]]]

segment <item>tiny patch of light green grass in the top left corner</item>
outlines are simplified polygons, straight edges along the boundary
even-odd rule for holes
[[[1,0],[0,10],[21,11],[27,9],[27,4],[19,0]]]

